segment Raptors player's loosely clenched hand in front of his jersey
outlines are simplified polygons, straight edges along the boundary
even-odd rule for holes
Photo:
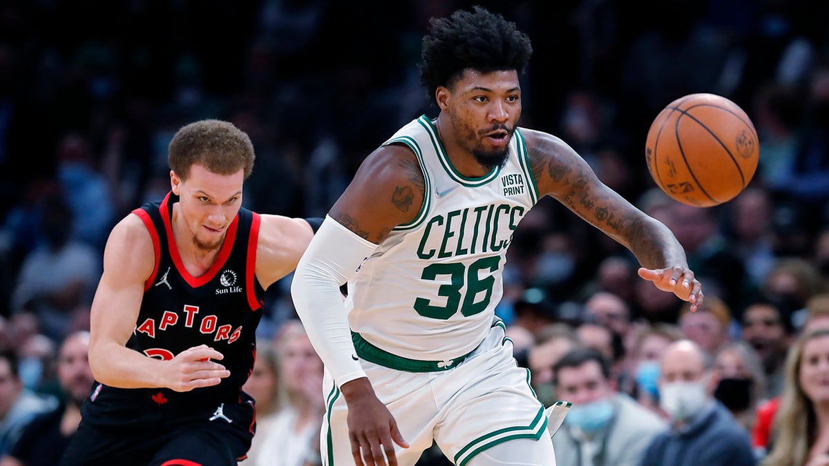
[[[224,356],[221,352],[200,345],[187,348],[173,357],[162,373],[164,386],[174,391],[191,391],[202,386],[219,385],[230,371],[216,361]]]

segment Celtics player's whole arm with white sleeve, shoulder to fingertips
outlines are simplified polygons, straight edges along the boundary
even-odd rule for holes
[[[417,215],[423,192],[423,174],[410,149],[377,149],[332,207],[293,276],[291,294],[299,318],[347,402],[356,464],[385,464],[385,456],[396,465],[393,443],[409,445],[357,361],[340,285],[357,273],[392,228]]]

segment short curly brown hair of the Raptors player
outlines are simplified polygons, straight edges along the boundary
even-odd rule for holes
[[[254,145],[247,133],[226,121],[203,119],[182,126],[172,137],[167,163],[173,172],[186,180],[190,167],[198,163],[209,172],[232,175],[245,170],[245,178],[254,169]]]

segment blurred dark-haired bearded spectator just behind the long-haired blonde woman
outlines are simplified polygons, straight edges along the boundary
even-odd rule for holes
[[[773,398],[783,391],[783,362],[794,328],[791,314],[768,299],[757,299],[743,312],[744,342],[748,342],[766,373],[764,398]]]

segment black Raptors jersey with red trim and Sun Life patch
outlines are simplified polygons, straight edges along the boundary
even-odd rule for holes
[[[241,386],[253,370],[255,332],[264,289],[255,277],[259,215],[240,209],[225,235],[216,262],[200,277],[182,264],[172,235],[172,192],[163,201],[133,211],[153,238],[156,265],[144,286],[141,310],[127,347],[148,357],[172,359],[205,344],[224,355],[230,371],[217,386],[177,392],[166,388],[123,389],[96,384],[83,406],[97,425],[156,425],[240,404]],[[245,397],[247,398],[247,397]]]

